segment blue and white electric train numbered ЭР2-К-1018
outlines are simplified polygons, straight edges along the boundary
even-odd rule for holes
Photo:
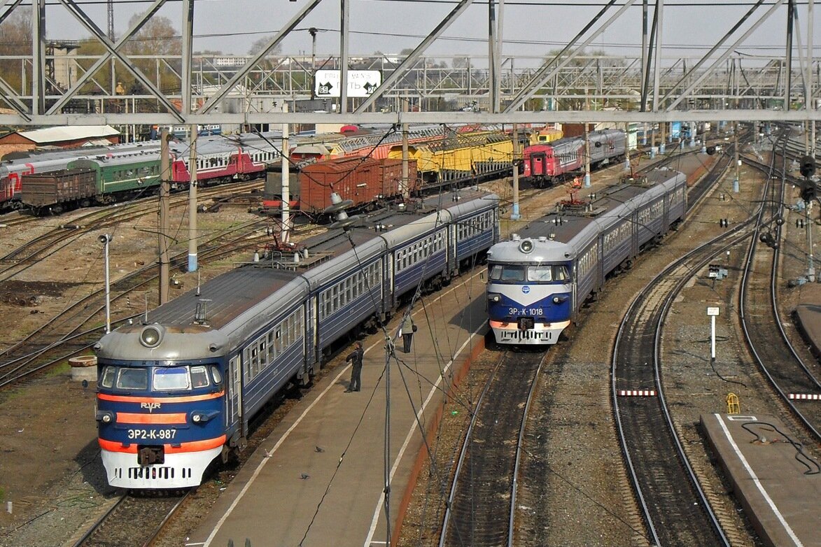
[[[682,221],[686,176],[657,169],[558,207],[488,251],[488,321],[499,344],[556,344],[609,274]]]

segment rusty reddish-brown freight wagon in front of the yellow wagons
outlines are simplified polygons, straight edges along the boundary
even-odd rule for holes
[[[300,209],[322,213],[336,192],[353,202],[351,209],[370,209],[380,200],[401,195],[402,162],[396,159],[340,157],[305,166],[300,171]],[[411,191],[415,187],[416,162],[408,162]]]

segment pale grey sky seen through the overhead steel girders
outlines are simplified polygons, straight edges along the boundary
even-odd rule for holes
[[[272,35],[287,24],[307,0],[195,0],[196,50],[217,50],[225,54],[245,55],[255,40]],[[607,21],[625,0],[602,17]],[[86,13],[103,30],[108,28],[104,0],[77,0]],[[316,38],[318,57],[335,56],[339,51],[340,0],[323,0],[295,32],[282,44],[282,52],[310,54],[311,37],[308,29],[319,30]],[[505,0],[502,11],[504,45],[502,56],[540,59],[551,50],[573,38],[605,5],[605,0]],[[764,17],[773,5],[767,0],[742,26],[749,29],[754,21]],[[144,10],[147,0],[114,0],[115,31],[126,30],[128,20],[136,11]],[[750,10],[753,2],[728,0],[668,0],[663,11],[664,57],[699,57],[706,49],[718,43],[722,36]],[[376,51],[398,53],[415,48],[447,13],[456,6],[455,0],[350,0],[349,55],[367,55]],[[497,0],[498,6],[498,0]],[[641,4],[637,2],[609,25],[589,50],[604,50],[611,55],[635,57],[641,43]],[[498,9],[498,8],[497,8]],[[172,20],[180,27],[182,4],[179,0],[167,2],[158,16]],[[786,7],[777,8],[758,30],[745,40],[740,48],[754,57],[782,55],[786,43]],[[805,45],[807,38],[806,2],[799,4],[796,43]],[[821,7],[814,9],[814,26],[821,28]],[[67,13],[57,0],[48,0],[47,35],[49,39],[84,39],[90,35]],[[469,7],[428,49],[429,55],[487,56],[488,2],[477,1]],[[735,37],[741,33],[734,34]],[[585,35],[585,38],[589,34]],[[730,40],[732,43],[736,38]],[[2,40],[2,38],[0,38]],[[814,42],[821,43],[821,38]],[[814,48],[817,52],[821,48]]]

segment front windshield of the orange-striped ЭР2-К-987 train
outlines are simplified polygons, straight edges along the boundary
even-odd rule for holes
[[[222,384],[217,365],[103,368],[100,385],[125,391],[186,391]]]

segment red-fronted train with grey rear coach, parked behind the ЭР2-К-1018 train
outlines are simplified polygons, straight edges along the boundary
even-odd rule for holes
[[[624,131],[590,131],[588,139],[591,170],[625,158],[627,134]],[[584,175],[587,154],[583,136],[531,144],[522,152],[521,182],[547,188],[568,177]]]

